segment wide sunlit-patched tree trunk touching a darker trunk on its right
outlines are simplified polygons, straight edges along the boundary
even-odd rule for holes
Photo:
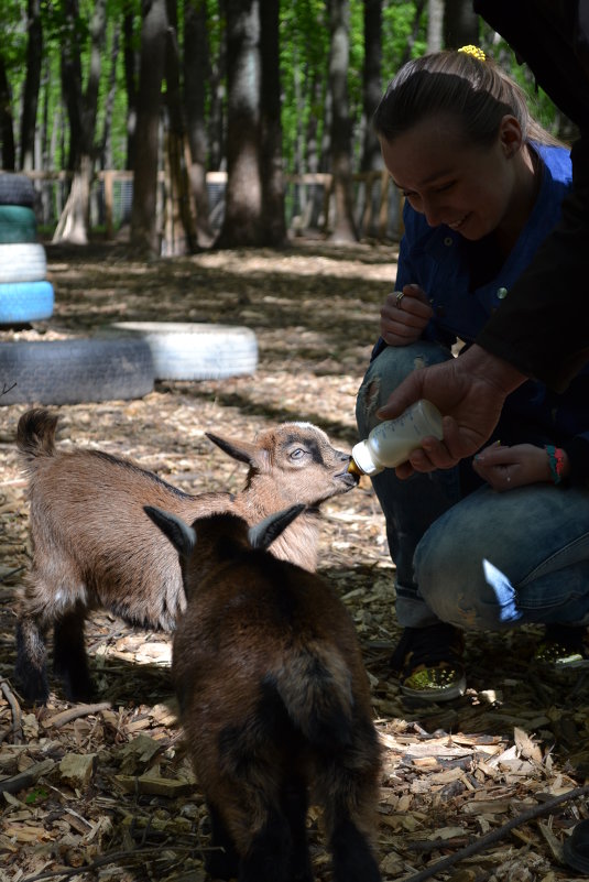
[[[227,2],[227,190],[216,246],[261,246],[259,0]]]

